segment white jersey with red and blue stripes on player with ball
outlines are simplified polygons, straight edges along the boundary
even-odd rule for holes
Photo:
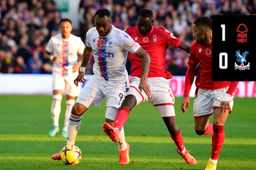
[[[105,37],[100,36],[95,27],[88,30],[86,45],[94,49],[94,75],[110,84],[127,80],[127,53],[137,53],[141,48],[130,35],[114,26]]]

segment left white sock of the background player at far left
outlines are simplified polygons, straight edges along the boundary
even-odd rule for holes
[[[51,104],[50,112],[53,119],[53,125],[58,126],[59,114],[61,113],[62,95],[55,94]]]

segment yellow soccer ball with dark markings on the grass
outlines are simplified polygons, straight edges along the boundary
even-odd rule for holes
[[[62,148],[61,158],[64,164],[78,164],[82,159],[82,152],[80,148],[71,144]]]

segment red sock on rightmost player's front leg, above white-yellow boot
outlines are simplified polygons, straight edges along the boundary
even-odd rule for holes
[[[212,149],[211,156],[212,160],[218,160],[219,153],[222,150],[222,145],[225,140],[225,132],[223,125],[213,125],[214,135],[212,137]]]

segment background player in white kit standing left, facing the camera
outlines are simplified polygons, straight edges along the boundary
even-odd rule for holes
[[[66,137],[67,124],[72,106],[74,105],[74,98],[80,92],[79,88],[74,85],[74,79],[77,77],[78,69],[82,63],[85,45],[81,38],[70,34],[72,30],[70,19],[62,18],[59,22],[59,27],[61,34],[50,38],[46,46],[44,58],[54,61],[52,84],[54,99],[51,105],[53,127],[49,132],[49,136],[55,136],[56,132],[59,131],[58,120],[61,113],[62,92],[64,90],[66,93],[66,115],[62,136]]]

